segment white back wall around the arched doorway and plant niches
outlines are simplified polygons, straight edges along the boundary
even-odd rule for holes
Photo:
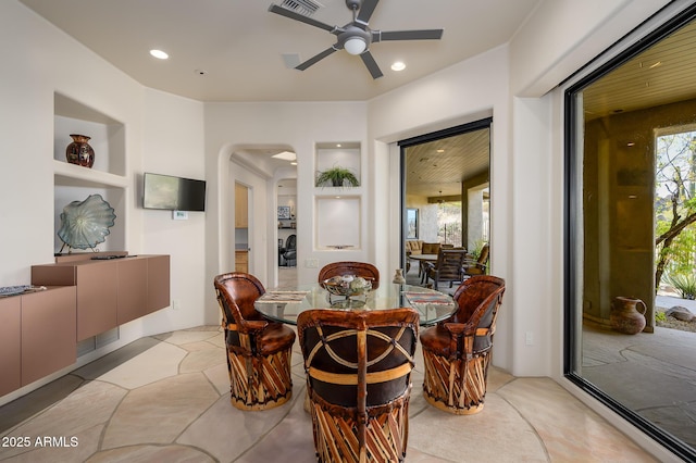
[[[220,212],[206,216],[206,278],[212,281],[215,275],[228,272],[221,255],[226,255],[229,246],[227,214],[234,205],[229,204],[226,193],[231,182],[229,155],[239,147],[287,146],[297,153],[297,249],[298,281],[316,280],[319,268],[304,266],[308,259],[316,259],[318,266],[336,260],[336,253],[315,250],[313,233],[315,221],[312,214],[314,203],[315,143],[327,141],[351,141],[366,147],[366,104],[362,102],[325,102],[325,103],[208,103],[204,105],[206,118],[206,168],[209,173],[211,210]],[[346,123],[349,121],[349,123]],[[368,157],[368,151],[362,153]],[[362,180],[371,182],[371,173],[362,172]],[[272,184],[272,185],[271,185]],[[275,188],[271,182],[270,191]],[[363,187],[360,187],[363,188]],[[275,217],[277,198],[266,195],[265,211],[269,217]],[[300,212],[301,210],[301,212]],[[301,214],[301,215],[300,215]],[[368,211],[363,208],[361,234],[368,234]],[[277,229],[277,222],[269,220],[265,230],[266,242]],[[343,252],[340,259],[366,260],[368,249]],[[268,255],[268,265],[274,262],[272,253]],[[261,280],[272,286],[271,274]],[[206,321],[217,323],[220,309],[214,293],[206,293]]]

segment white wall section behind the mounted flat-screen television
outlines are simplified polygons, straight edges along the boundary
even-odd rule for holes
[[[142,133],[141,172],[206,179],[201,102],[147,89]],[[136,209],[141,207],[141,172],[134,172],[138,187]],[[210,188],[207,189],[210,198]],[[212,291],[212,283],[204,278],[206,216],[215,212],[188,212],[188,220],[174,221],[171,211],[139,211],[145,252],[171,255],[171,299],[176,302],[142,318],[145,333],[202,325],[203,292]]]

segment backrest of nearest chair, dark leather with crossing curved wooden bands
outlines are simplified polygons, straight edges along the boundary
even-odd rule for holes
[[[309,310],[297,318],[311,398],[357,411],[361,449],[368,408],[409,397],[418,324],[419,314],[410,308]]]

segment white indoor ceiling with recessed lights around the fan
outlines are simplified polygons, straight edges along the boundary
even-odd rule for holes
[[[539,0],[382,0],[372,29],[443,28],[442,40],[383,41],[370,51],[384,76],[373,80],[345,50],[297,71],[336,37],[270,13],[282,0],[20,0],[140,84],[199,101],[364,101],[513,37]],[[345,0],[319,0],[314,20],[352,21]],[[150,49],[170,54],[166,61]],[[407,68],[394,72],[394,61]],[[199,70],[206,72],[199,74]]]

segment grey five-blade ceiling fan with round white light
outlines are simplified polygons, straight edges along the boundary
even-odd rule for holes
[[[359,54],[362,62],[370,71],[372,78],[382,77],[380,66],[370,53],[370,45],[386,40],[439,40],[443,37],[443,29],[422,29],[422,30],[391,30],[382,32],[373,30],[368,27],[370,16],[377,7],[380,0],[346,0],[346,7],[352,11],[352,22],[343,27],[330,26],[321,21],[313,20],[309,16],[296,13],[287,8],[271,4],[269,11],[289,17],[310,26],[319,27],[335,35],[338,40],[321,53],[310,58],[303,63],[298,64],[295,68],[304,71],[312,64],[318,63],[334,51],[345,49],[350,54]]]

